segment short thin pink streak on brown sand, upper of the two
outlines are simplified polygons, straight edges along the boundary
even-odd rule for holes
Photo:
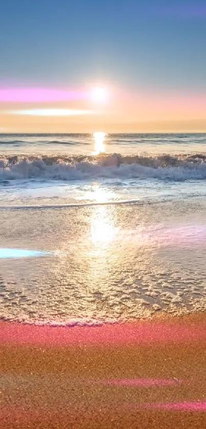
[[[180,380],[162,379],[162,378],[123,378],[113,380],[101,380],[105,385],[113,386],[137,386],[137,387],[151,387],[151,386],[172,386],[180,383]]]

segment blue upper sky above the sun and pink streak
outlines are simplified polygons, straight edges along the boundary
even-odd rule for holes
[[[206,6],[145,0],[7,0],[2,84],[206,89]]]

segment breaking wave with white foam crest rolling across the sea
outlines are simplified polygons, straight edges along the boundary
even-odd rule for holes
[[[0,180],[98,178],[206,179],[206,155],[0,155]]]

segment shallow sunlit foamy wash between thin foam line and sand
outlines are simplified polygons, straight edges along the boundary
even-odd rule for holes
[[[205,311],[205,205],[198,200],[155,210],[0,211],[0,220],[3,242],[26,249],[26,237],[30,249],[49,251],[0,260],[3,320],[89,326]]]

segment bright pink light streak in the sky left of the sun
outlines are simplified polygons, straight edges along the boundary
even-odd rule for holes
[[[53,88],[0,88],[0,102],[51,102],[79,100],[88,96],[86,92]]]

